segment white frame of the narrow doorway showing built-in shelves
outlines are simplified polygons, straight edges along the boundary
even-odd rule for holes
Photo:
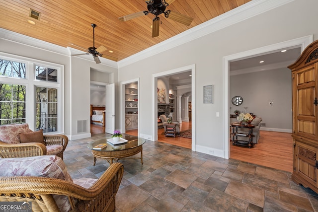
[[[139,78],[127,80],[120,82],[120,132],[126,133],[126,123],[125,123],[125,86],[126,84],[130,83],[136,83],[137,82],[137,88],[138,88],[138,100],[139,100],[139,91],[140,91],[140,86],[139,86]],[[140,113],[139,113],[139,101],[138,101],[138,137],[139,137],[139,132],[140,132]]]

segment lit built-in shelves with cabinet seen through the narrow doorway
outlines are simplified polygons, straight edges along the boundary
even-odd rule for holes
[[[126,130],[138,128],[138,84],[125,85],[125,126]]]

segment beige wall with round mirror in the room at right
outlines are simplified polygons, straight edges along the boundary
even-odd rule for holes
[[[266,126],[278,132],[291,132],[292,125],[292,74],[287,68],[239,74],[230,77],[230,102],[241,96],[243,103],[230,103],[231,114],[235,110],[253,113],[262,117]],[[273,102],[271,106],[269,102]]]

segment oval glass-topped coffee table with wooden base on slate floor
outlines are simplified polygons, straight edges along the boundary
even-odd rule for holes
[[[87,147],[91,149],[91,153],[94,156],[94,164],[96,163],[96,159],[105,159],[111,165],[113,162],[117,162],[120,158],[130,157],[140,152],[140,157],[131,159],[140,159],[141,164],[143,164],[143,144],[146,142],[145,139],[123,134],[123,139],[127,140],[127,142],[123,142],[120,144],[113,144],[107,140],[109,138],[98,139],[96,141],[92,141],[88,143]],[[107,146],[102,149],[93,149],[94,146],[107,143]]]

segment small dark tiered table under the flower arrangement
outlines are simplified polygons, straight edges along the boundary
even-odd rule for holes
[[[253,147],[253,128],[254,125],[240,125],[240,124],[231,124],[232,127],[232,144],[247,146],[248,148]],[[238,133],[238,128],[247,128],[248,131],[246,133]],[[248,137],[248,141],[239,140],[240,137]]]

